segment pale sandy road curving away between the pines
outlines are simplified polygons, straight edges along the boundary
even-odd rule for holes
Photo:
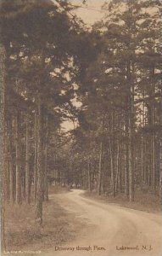
[[[48,253],[57,256],[162,256],[162,216],[160,214],[87,199],[81,196],[82,192],[74,189],[70,193],[57,195],[57,198],[62,207],[75,212],[82,224],[92,225],[92,229],[87,229],[83,236],[69,244],[64,244],[59,247],[59,250],[58,247],[53,246]],[[51,195],[52,199],[53,195]],[[77,246],[83,247],[82,250],[76,250]],[[128,248],[120,249],[122,246]],[[65,251],[63,251],[64,248]],[[89,251],[87,251],[88,248]]]

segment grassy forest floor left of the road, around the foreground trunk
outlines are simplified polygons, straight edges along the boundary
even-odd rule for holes
[[[52,187],[49,196],[61,195],[68,190],[70,189]],[[81,223],[75,219],[75,214],[64,210],[54,198],[53,201],[43,203],[41,230],[35,225],[32,202],[30,205],[23,203],[20,206],[8,204],[5,206],[4,216],[5,252],[40,252],[44,248],[74,240],[78,230],[81,230]]]

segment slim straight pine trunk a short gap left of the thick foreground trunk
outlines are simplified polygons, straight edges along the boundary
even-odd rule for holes
[[[28,116],[25,120],[26,134],[25,134],[25,200],[30,203],[30,140],[29,140],[29,120]]]

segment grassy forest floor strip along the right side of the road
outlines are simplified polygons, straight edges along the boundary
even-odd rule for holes
[[[133,202],[128,201],[125,195],[116,195],[115,197],[112,195],[97,195],[95,191],[86,191],[84,196],[139,211],[153,213],[162,212],[162,205],[159,202],[159,196],[153,195],[151,192],[142,192],[140,190],[136,191],[135,200]]]

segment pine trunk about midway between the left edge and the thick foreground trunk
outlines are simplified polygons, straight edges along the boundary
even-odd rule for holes
[[[21,166],[20,166],[20,113],[15,119],[15,150],[16,150],[16,203],[21,203]]]

